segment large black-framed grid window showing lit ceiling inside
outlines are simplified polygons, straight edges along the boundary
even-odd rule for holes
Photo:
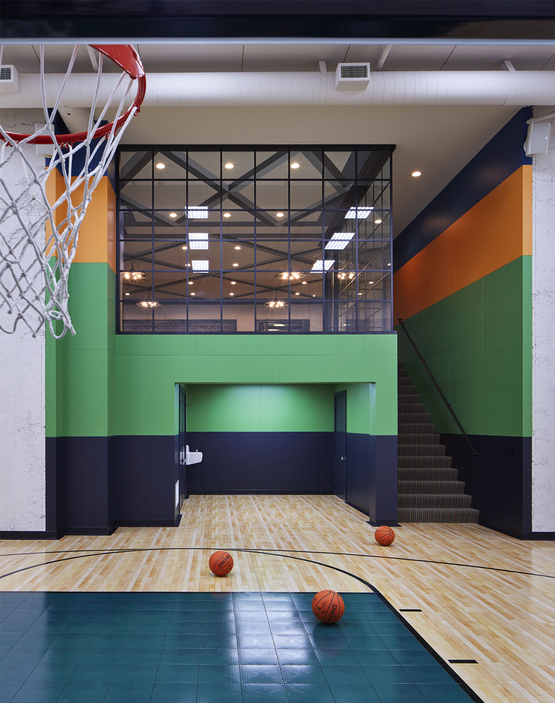
[[[392,331],[392,146],[119,150],[119,331]]]

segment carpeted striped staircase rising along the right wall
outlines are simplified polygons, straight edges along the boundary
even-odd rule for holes
[[[458,469],[451,467],[445,445],[407,371],[398,371],[398,510],[400,523],[476,523],[472,496],[464,493]]]

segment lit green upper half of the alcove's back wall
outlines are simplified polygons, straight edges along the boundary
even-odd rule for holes
[[[189,432],[332,432],[333,386],[187,384]]]

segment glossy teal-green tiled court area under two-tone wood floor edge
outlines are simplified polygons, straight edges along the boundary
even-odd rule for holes
[[[375,593],[331,626],[313,594],[6,595],[9,703],[479,700]]]

